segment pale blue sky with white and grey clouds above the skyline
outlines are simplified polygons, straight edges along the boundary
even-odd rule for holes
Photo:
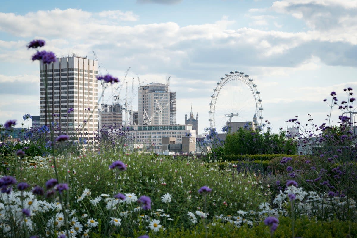
[[[26,48],[33,39],[44,39],[44,50],[59,57],[76,53],[94,60],[94,51],[100,72],[121,81],[130,67],[126,80],[134,110],[137,76],[145,84],[165,83],[170,76],[177,123],[185,123],[192,105],[199,133],[210,126],[213,89],[231,71],[254,80],[262,123],[268,120],[275,133],[293,126],[287,120],[296,116],[308,123],[309,113],[322,124],[330,114],[330,93],[336,91],[341,102],[343,89],[357,86],[355,0],[5,0],[0,7],[0,123],[16,119],[19,124],[26,113],[39,115],[39,62],[31,61],[34,50]],[[252,120],[237,109],[256,107],[243,83],[222,87],[217,113],[238,113],[232,121]],[[108,103],[114,102],[111,95],[109,87]],[[332,124],[340,114],[332,109]]]

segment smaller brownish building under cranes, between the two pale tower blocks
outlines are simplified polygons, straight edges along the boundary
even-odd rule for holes
[[[112,125],[122,125],[123,124],[123,112],[122,106],[120,104],[103,106],[104,112],[102,112],[102,128],[107,128]]]

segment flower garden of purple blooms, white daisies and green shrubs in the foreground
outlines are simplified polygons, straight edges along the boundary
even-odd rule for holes
[[[29,43],[32,60],[54,62],[44,45]],[[7,141],[18,123],[9,119],[0,127],[0,237],[357,237],[355,98],[352,88],[330,95],[337,125],[309,115],[307,124],[288,119],[297,134],[225,128],[226,141],[208,128],[197,146],[212,151],[200,156],[135,152],[122,126],[86,141],[80,126],[61,131],[56,115],[30,129],[25,114],[22,139]]]

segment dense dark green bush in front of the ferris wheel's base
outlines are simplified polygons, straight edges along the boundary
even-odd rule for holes
[[[265,133],[239,128],[232,134],[227,134],[224,153],[225,155],[246,154],[296,154],[296,143],[292,138],[286,138],[285,131],[272,134],[270,130]]]

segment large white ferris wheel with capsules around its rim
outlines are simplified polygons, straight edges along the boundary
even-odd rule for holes
[[[253,79],[244,72],[230,72],[217,82],[210,103],[210,124],[219,133],[227,121],[253,121],[262,123],[262,99]]]

